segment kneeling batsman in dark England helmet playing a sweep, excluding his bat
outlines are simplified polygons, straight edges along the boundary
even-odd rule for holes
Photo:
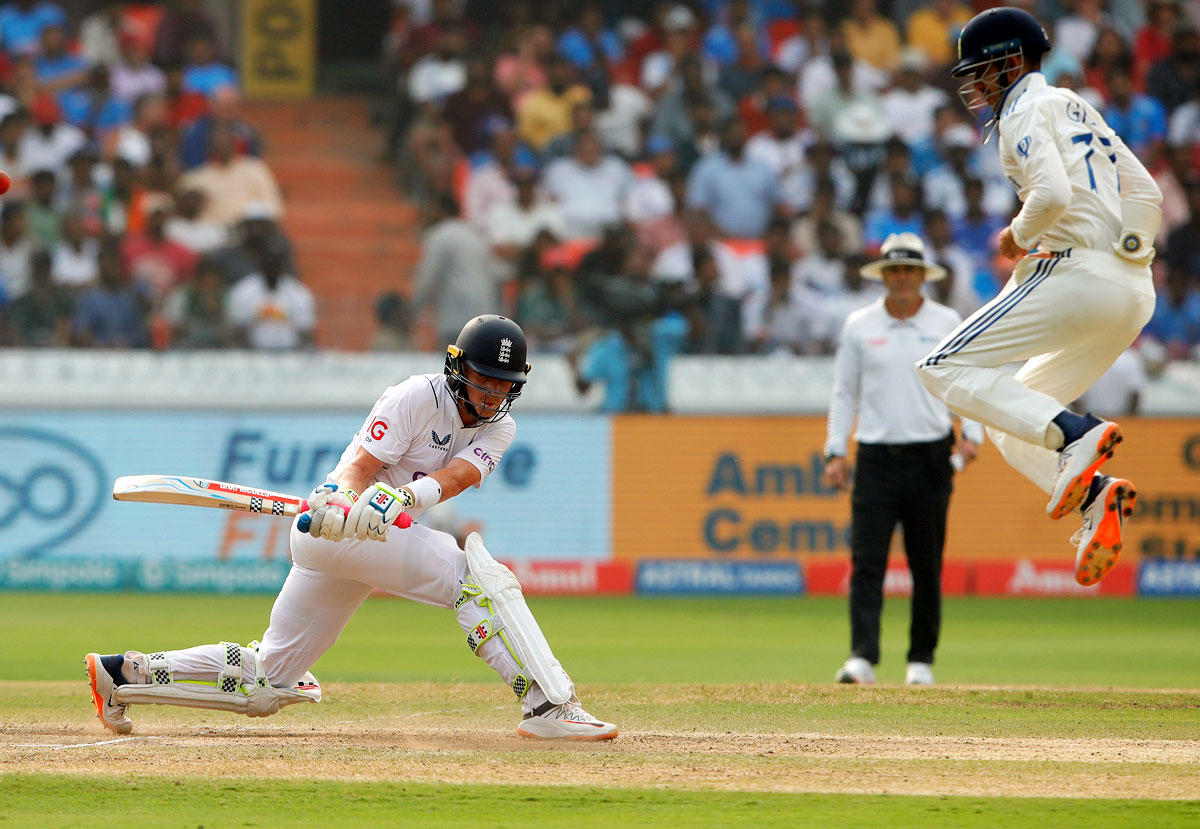
[[[131,704],[268,716],[283,705],[320,702],[310,668],[379,588],[454,609],[472,651],[520,698],[517,734],[617,737],[614,725],[583,710],[520,583],[478,534],[460,549],[454,536],[420,523],[392,527],[401,512],[416,517],[479,486],[496,469],[516,434],[509,409],[529,372],[526,358],[520,325],[476,317],[446,348],[443,373],[418,374],[389,388],[326,482],[308,497],[310,511],[292,525],[292,571],[263,641],[88,654],[100,721],[127,734],[133,729]]]

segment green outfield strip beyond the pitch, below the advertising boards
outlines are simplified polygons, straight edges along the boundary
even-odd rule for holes
[[[535,597],[586,683],[826,683],[846,657],[841,599]],[[259,638],[270,596],[0,594],[0,679],[65,679],[100,653]],[[904,679],[908,603],[889,600],[881,681]],[[1200,687],[1200,602],[948,599],[943,684]],[[30,654],[38,659],[30,660]],[[325,681],[494,681],[448,611],[372,599],[317,663]]]

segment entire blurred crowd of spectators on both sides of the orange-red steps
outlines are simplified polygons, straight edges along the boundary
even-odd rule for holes
[[[396,0],[385,149],[425,227],[377,342],[408,346],[413,319],[446,341],[482,301],[572,359],[604,336],[635,358],[828,354],[877,296],[859,266],[899,230],[971,313],[1007,280],[995,236],[1019,206],[946,71],[986,5]],[[1141,342],[1194,359],[1200,2],[1022,5],[1056,44],[1048,79],[1154,172]],[[203,2],[79,19],[7,2],[0,50],[0,342],[312,344],[283,199]]]

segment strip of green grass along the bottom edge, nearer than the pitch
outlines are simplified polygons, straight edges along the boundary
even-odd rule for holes
[[[745,794],[422,783],[281,783],[28,775],[0,777],[0,798],[23,809],[0,825],[276,827],[1194,827],[1200,803],[1024,798]]]

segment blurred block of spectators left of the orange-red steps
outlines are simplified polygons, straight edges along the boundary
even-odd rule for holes
[[[283,199],[203,2],[80,19],[7,2],[0,49],[0,343],[311,342]]]

